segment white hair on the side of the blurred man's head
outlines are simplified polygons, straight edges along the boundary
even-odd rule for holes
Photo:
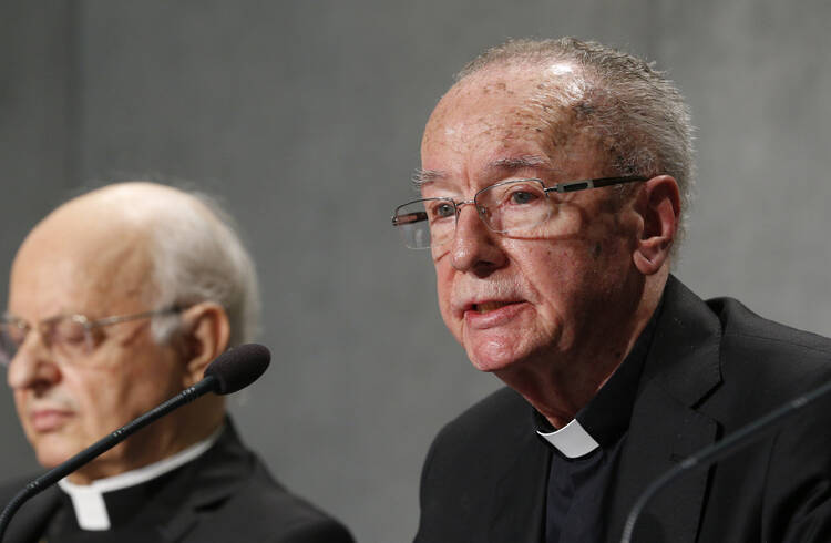
[[[202,193],[182,193],[154,208],[150,223],[153,303],[187,308],[201,301],[222,305],[230,325],[229,347],[252,341],[259,328],[259,286],[252,256],[233,218]],[[163,342],[177,319],[156,318],[153,335]]]

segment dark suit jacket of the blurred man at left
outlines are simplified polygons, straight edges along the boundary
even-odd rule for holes
[[[229,421],[213,448],[181,469],[148,504],[165,512],[154,542],[352,543],[346,527],[275,482]],[[3,506],[27,481],[0,489]],[[23,504],[3,543],[37,541],[60,501],[53,486]]]

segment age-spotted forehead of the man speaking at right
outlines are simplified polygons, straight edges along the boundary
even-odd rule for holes
[[[572,66],[563,64],[474,73],[448,91],[431,114],[422,168],[438,178],[476,176],[500,165],[544,162],[540,167],[556,172],[599,162],[573,106],[581,90]]]

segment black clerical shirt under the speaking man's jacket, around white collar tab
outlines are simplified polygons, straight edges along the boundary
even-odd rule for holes
[[[545,504],[545,543],[596,543],[605,536],[609,484],[629,428],[659,310],[626,359],[575,417],[599,447],[578,458],[567,458],[546,440],[553,452]],[[555,430],[536,411],[534,421],[538,432]]]

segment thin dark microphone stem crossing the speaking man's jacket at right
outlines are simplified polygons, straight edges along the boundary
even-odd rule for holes
[[[710,465],[717,460],[728,457],[737,449],[740,449],[751,443],[752,441],[760,439],[768,430],[776,428],[777,424],[782,422],[787,417],[796,413],[798,410],[804,408],[809,403],[818,400],[829,392],[831,392],[831,382],[827,382],[821,387],[818,387],[809,392],[806,392],[802,396],[794,398],[784,406],[780,406],[773,411],[770,411],[768,414],[745,424],[735,432],[725,437],[725,439],[717,441],[711,445],[705,447],[700,451],[686,458],[681,461],[681,463],[677,464],[675,468],[649,483],[646,490],[635,502],[635,505],[633,505],[632,510],[629,510],[629,515],[626,518],[626,523],[624,524],[620,543],[629,543],[632,541],[632,533],[635,531],[635,523],[637,522],[637,519],[643,512],[644,508],[646,508],[646,504],[649,502],[649,500],[652,500],[660,489],[669,484],[670,481],[677,479],[686,471],[699,467]]]

